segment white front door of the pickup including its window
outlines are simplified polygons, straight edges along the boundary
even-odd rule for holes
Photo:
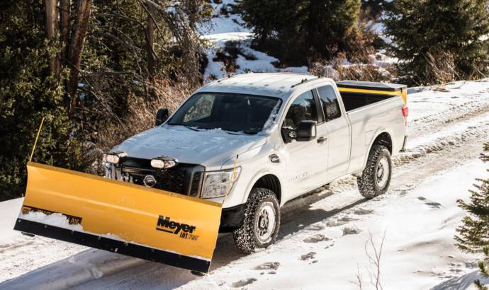
[[[317,125],[316,138],[310,141],[296,141],[284,146],[283,156],[286,158],[286,186],[291,196],[302,195],[309,190],[324,184],[327,168],[326,126],[322,122],[322,114],[318,114],[318,99],[313,91],[306,91],[293,100],[288,108],[282,124],[282,132],[293,132],[300,122],[313,120]],[[283,133],[286,134],[286,133]]]

